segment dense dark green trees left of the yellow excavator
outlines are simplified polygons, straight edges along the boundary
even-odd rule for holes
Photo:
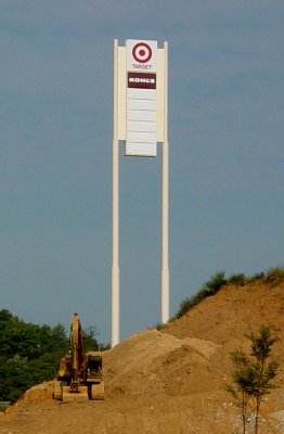
[[[28,387],[54,378],[67,348],[62,324],[35,326],[0,310],[0,400],[14,401]]]

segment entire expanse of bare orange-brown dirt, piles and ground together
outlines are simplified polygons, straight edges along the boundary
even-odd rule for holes
[[[284,282],[228,285],[162,331],[145,330],[104,354],[105,400],[61,404],[52,382],[33,387],[5,416],[0,434],[229,434],[238,411],[225,392],[230,353],[249,331],[277,328],[284,366]],[[284,433],[284,370],[263,403],[259,434]]]

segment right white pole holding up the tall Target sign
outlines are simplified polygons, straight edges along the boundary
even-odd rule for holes
[[[162,289],[160,319],[169,320],[169,151],[168,151],[168,42],[164,42],[164,142],[162,162]]]

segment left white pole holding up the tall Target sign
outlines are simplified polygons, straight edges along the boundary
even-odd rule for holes
[[[113,139],[113,265],[112,347],[119,343],[119,142],[118,142],[118,40],[114,40],[114,139]]]

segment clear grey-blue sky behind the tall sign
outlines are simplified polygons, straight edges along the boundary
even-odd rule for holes
[[[0,0],[0,308],[111,342],[113,40],[168,41],[170,316],[284,265],[283,0]],[[120,339],[160,321],[162,145],[119,145]]]

